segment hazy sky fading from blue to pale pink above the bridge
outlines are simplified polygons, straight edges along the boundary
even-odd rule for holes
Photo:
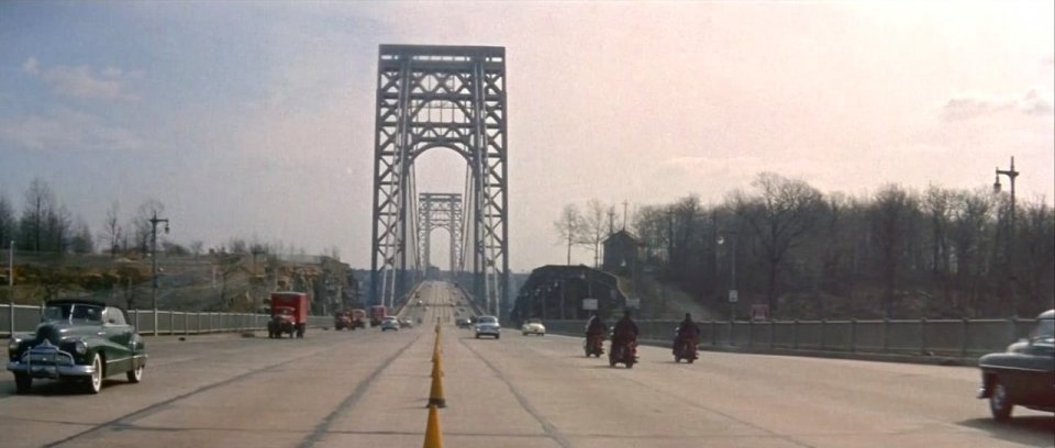
[[[97,232],[113,201],[154,198],[175,240],[336,246],[368,268],[378,45],[434,44],[507,48],[517,271],[564,261],[566,203],[717,203],[759,171],[851,194],[981,188],[1013,155],[1019,195],[1051,203],[1053,16],[1052,1],[3,1],[0,194],[21,210],[41,178]],[[451,152],[417,169],[419,191],[462,190]]]

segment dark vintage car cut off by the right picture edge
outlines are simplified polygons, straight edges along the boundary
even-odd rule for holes
[[[1008,346],[1000,354],[978,360],[981,368],[979,399],[989,399],[992,418],[1011,418],[1015,405],[1055,412],[1055,310],[1036,317],[1028,339]]]

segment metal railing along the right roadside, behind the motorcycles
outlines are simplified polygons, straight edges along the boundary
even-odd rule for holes
[[[674,340],[678,321],[636,322],[641,338]],[[700,344],[748,350],[802,350],[971,358],[1029,336],[1036,320],[704,321]],[[551,333],[579,336],[582,321],[549,321]]]

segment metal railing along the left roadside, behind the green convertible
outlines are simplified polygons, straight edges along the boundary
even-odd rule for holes
[[[0,336],[10,337],[14,332],[31,333],[41,322],[44,309],[33,305],[14,305],[12,318],[11,306],[0,306]],[[127,313],[129,324],[133,325],[143,335],[198,335],[224,332],[256,332],[267,329],[267,314],[254,313],[207,313],[184,311],[158,311],[157,332],[154,331],[153,310],[131,310]],[[333,325],[333,317],[309,316],[309,327]]]

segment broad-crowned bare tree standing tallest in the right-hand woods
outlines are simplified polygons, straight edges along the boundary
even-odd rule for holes
[[[776,312],[777,275],[788,250],[809,232],[822,205],[821,192],[801,180],[763,172],[751,183],[757,195],[732,197],[737,216],[758,237],[767,269],[766,298]]]

